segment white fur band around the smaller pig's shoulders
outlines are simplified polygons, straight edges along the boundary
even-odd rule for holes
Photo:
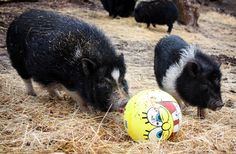
[[[184,66],[188,61],[194,59],[196,47],[189,45],[186,48],[181,49],[181,57],[178,63],[175,63],[169,67],[166,71],[166,75],[163,77],[162,84],[165,91],[172,95],[178,95],[176,93],[176,80],[183,71]]]

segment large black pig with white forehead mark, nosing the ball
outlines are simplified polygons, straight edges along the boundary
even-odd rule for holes
[[[12,66],[23,79],[27,93],[36,95],[31,79],[50,96],[58,85],[79,103],[106,111],[122,109],[128,86],[123,54],[95,26],[50,11],[29,10],[16,18],[7,31]]]

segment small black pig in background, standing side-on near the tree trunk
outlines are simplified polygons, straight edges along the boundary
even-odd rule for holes
[[[176,5],[167,0],[138,0],[134,9],[134,17],[137,22],[146,23],[147,27],[152,24],[167,25],[168,33],[171,33],[173,23],[178,18]]]

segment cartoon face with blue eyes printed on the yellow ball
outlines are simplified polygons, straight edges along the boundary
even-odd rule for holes
[[[147,119],[145,124],[155,126],[151,130],[145,130],[146,140],[165,140],[170,137],[174,129],[174,123],[171,113],[164,106],[152,107],[147,113],[143,112],[143,114],[145,114],[145,117],[142,118]]]

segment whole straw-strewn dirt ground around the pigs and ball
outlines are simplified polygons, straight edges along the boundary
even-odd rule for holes
[[[133,142],[120,113],[81,113],[71,99],[50,100],[34,83],[37,97],[25,94],[22,80],[10,66],[5,37],[9,23],[29,8],[58,11],[94,24],[124,53],[130,95],[158,88],[153,71],[154,47],[167,26],[147,29],[133,17],[108,17],[99,1],[79,4],[39,1],[0,5],[0,153],[236,153],[236,19],[203,11],[198,29],[174,24],[172,34],[196,44],[221,65],[220,111],[207,110],[206,119],[189,107],[180,132],[171,141]]]

